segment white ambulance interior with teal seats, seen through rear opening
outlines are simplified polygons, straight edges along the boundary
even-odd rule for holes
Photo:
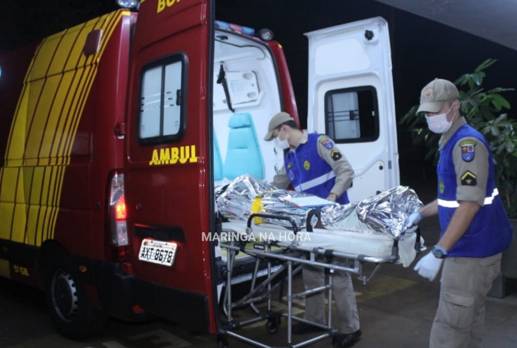
[[[283,156],[263,140],[281,111],[275,63],[262,43],[216,31],[214,50],[214,180],[226,185],[249,174],[270,181]]]

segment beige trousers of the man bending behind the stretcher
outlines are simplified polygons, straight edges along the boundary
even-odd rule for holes
[[[316,260],[323,262],[321,256]],[[335,264],[343,265],[339,262]],[[325,285],[325,272],[323,268],[303,265],[303,284],[305,284],[306,290]],[[350,273],[341,270],[334,271],[332,276],[332,295],[338,309],[339,331],[342,334],[352,334],[352,332],[359,330],[359,314],[357,313],[354,286]],[[329,305],[330,303],[329,299]],[[306,297],[304,316],[306,320],[325,324],[326,313],[325,292],[318,292]]]

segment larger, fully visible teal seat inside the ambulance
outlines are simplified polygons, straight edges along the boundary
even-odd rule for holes
[[[224,159],[223,174],[235,179],[244,174],[264,179],[264,160],[251,114],[237,113],[230,116],[228,147]]]

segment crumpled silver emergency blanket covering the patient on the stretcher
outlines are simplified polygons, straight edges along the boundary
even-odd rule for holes
[[[216,188],[217,207],[224,218],[248,220],[253,212],[282,215],[291,217],[299,230],[306,228],[307,216],[314,207],[296,207],[288,200],[311,196],[314,197],[304,192],[276,189],[250,175],[239,176],[229,185]],[[324,206],[321,222],[328,230],[387,234],[398,239],[406,232],[407,217],[420,207],[422,203],[415,191],[397,186],[357,203]],[[286,220],[261,220],[291,227]],[[312,226],[316,224],[316,215],[310,222]]]

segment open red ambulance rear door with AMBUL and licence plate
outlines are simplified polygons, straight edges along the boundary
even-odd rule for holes
[[[140,3],[124,185],[134,305],[216,332],[215,258],[206,238],[215,215],[212,11],[210,0]]]

